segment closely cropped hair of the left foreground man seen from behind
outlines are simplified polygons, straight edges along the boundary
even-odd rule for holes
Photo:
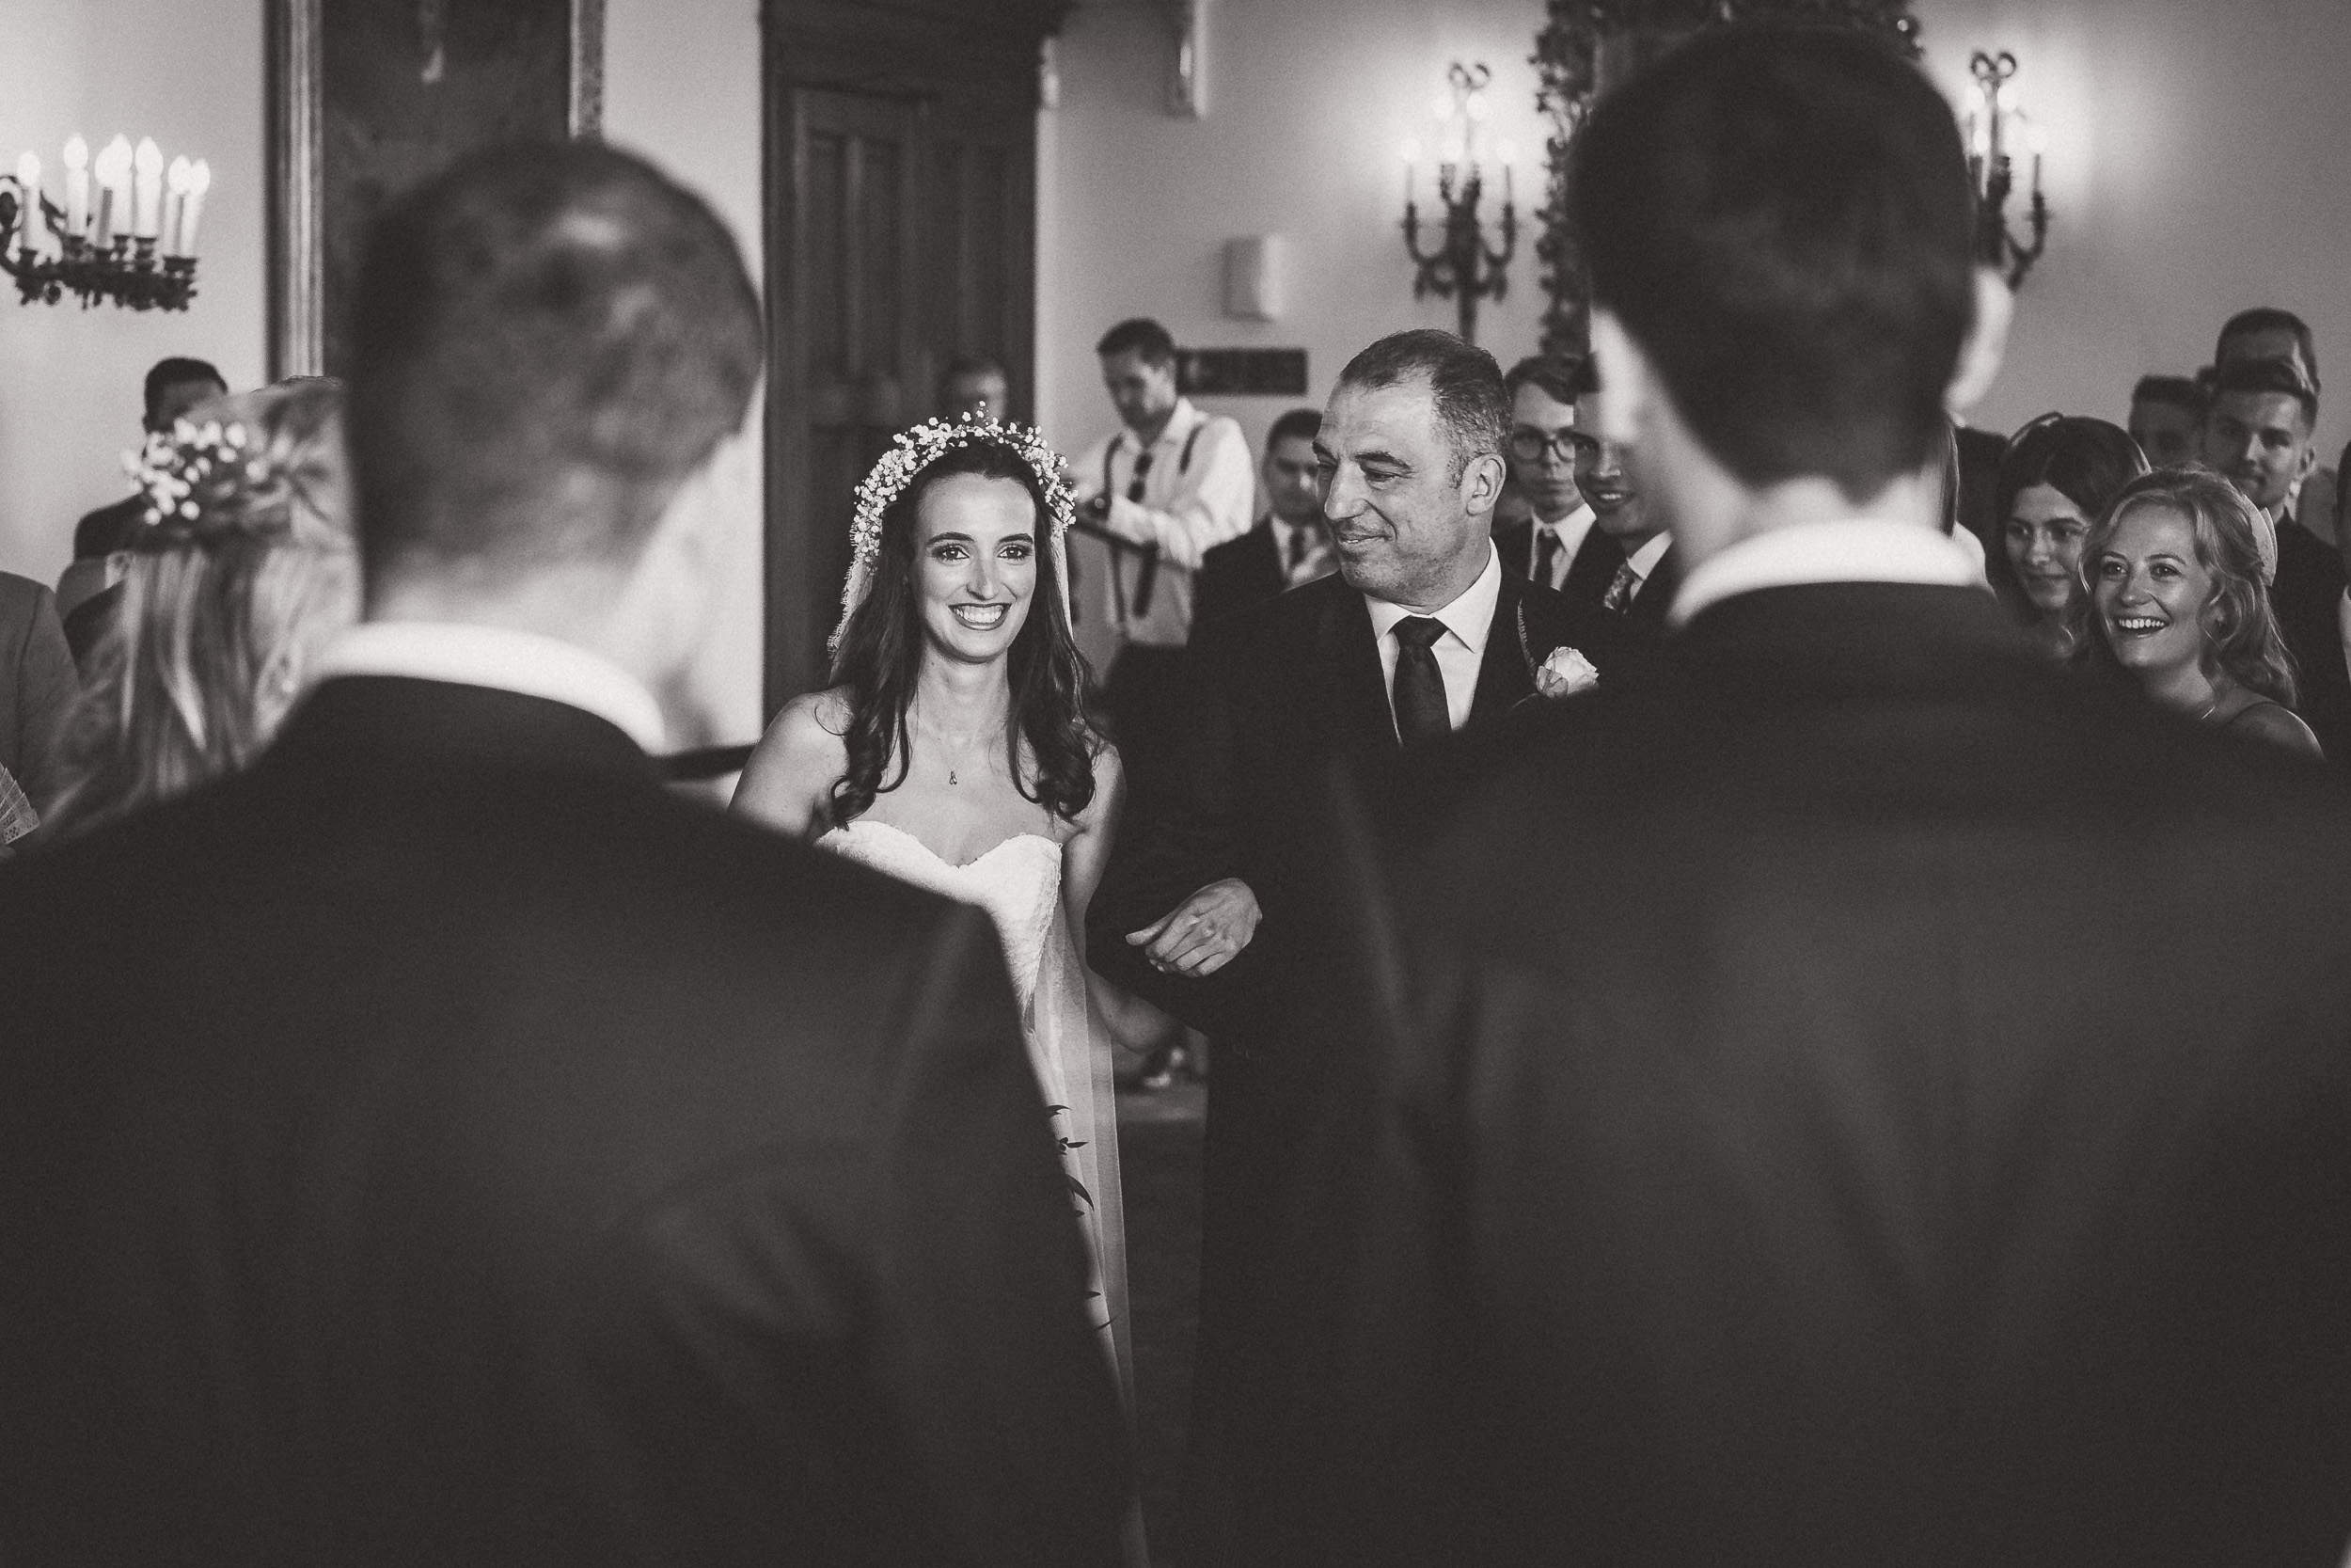
[[[371,578],[630,562],[762,362],[726,226],[592,141],[494,148],[393,202],[353,343]]]

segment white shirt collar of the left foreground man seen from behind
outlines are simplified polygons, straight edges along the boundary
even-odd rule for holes
[[[327,644],[310,682],[339,675],[395,675],[536,696],[592,712],[647,752],[668,750],[654,693],[602,654],[560,637],[454,621],[367,621]]]

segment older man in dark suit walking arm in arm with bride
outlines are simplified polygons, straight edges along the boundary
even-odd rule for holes
[[[1251,1488],[1265,1455],[1227,1443],[1241,1389],[1270,1389],[1279,1258],[1265,1222],[1291,1178],[1291,1126],[1321,1065],[1288,1051],[1324,961],[1338,759],[1389,773],[1486,726],[1575,642],[1549,588],[1502,569],[1502,376],[1444,331],[1380,339],[1340,374],[1314,451],[1338,574],[1201,628],[1185,795],[1128,811],[1089,912],[1089,961],[1215,1041],[1201,1237],[1194,1450],[1211,1488]]]

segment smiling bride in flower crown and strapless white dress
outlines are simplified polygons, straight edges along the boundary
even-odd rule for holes
[[[734,809],[994,919],[1096,1328],[1131,1394],[1110,1039],[1077,950],[1121,783],[1086,722],[1070,517],[1060,458],[1032,430],[966,416],[903,433],[858,487],[832,689],[776,715]]]

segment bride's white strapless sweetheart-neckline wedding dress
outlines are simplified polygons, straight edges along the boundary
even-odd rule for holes
[[[1016,832],[978,860],[955,865],[903,827],[856,818],[818,849],[947,898],[978,905],[997,926],[1020,999],[1020,1037],[1053,1114],[1079,1229],[1093,1260],[1096,1328],[1133,1396],[1126,1335],[1126,1211],[1119,1192],[1119,1112],[1110,1034],[1086,999],[1086,966],[1060,903],[1060,844]]]

